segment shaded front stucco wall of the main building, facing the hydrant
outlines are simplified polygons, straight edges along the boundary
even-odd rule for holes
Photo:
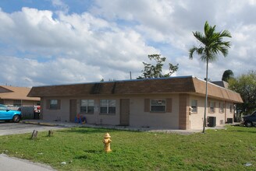
[[[152,113],[144,112],[144,99],[167,99],[172,98],[171,113]],[[44,98],[46,104],[47,99],[60,99],[59,97]],[[172,96],[81,96],[61,98],[60,110],[48,110],[46,105],[43,106],[44,120],[61,120],[69,121],[69,99],[76,99],[76,112],[80,113],[80,99],[94,99],[94,113],[83,113],[88,124],[120,124],[120,99],[130,99],[130,126],[133,127],[163,127],[178,129],[179,127],[179,100],[177,95]],[[116,113],[102,114],[100,113],[100,99],[116,99]]]

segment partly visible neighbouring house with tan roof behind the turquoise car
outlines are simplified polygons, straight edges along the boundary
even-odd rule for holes
[[[0,86],[0,104],[5,106],[34,106],[40,104],[40,98],[28,97],[30,88]]]

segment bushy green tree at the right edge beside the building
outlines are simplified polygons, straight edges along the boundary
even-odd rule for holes
[[[249,114],[256,109],[256,71],[229,79],[229,89],[240,93],[244,101],[236,104],[236,110]]]

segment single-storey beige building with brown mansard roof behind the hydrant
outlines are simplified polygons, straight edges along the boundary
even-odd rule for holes
[[[88,124],[203,127],[205,82],[193,76],[38,86],[28,96],[41,97],[43,120],[74,121],[80,113]],[[234,103],[243,103],[240,94],[208,83],[207,117],[217,126],[233,119]]]

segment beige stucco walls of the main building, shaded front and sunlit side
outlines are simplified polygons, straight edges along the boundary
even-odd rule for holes
[[[69,100],[76,99],[76,113],[80,113],[80,99],[94,99],[94,113],[84,114],[88,124],[120,124],[120,99],[130,99],[130,126],[132,127],[160,127],[168,129],[179,129],[179,94],[162,94],[162,95],[130,95],[130,96],[69,96],[69,97],[44,97],[42,102],[43,120],[61,120],[69,121],[70,110]],[[60,110],[48,110],[46,102],[48,99],[61,99]],[[116,99],[115,114],[100,113],[100,99]],[[172,99],[171,112],[145,112],[144,99]],[[192,99],[197,99],[197,113],[192,113],[188,117],[187,129],[201,129],[203,126],[204,117],[204,96],[188,96],[188,106]],[[221,120],[226,122],[226,117],[233,118],[233,113],[229,113],[229,105],[226,107],[226,116],[224,113],[219,113],[219,99],[209,99],[216,103],[215,113],[208,113],[207,117],[216,117],[216,125],[219,126]],[[187,110],[188,110],[187,106]]]

